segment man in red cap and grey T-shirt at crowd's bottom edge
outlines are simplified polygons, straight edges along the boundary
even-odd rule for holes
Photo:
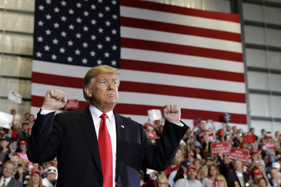
[[[187,170],[187,179],[182,178],[177,180],[174,187],[202,187],[202,183],[195,179],[197,175],[196,167],[194,165],[190,165],[186,168]]]

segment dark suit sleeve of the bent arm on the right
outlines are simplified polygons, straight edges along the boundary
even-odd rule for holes
[[[150,169],[164,171],[171,164],[174,156],[176,155],[179,142],[189,127],[185,124],[184,127],[180,127],[179,125],[165,121],[162,135],[156,145],[151,143],[151,141],[147,138],[142,125],[140,128],[140,132],[143,132],[142,164]]]

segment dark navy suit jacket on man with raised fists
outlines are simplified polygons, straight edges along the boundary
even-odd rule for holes
[[[147,138],[142,124],[113,113],[116,123],[116,186],[140,186],[141,165],[157,171],[169,167],[188,127],[166,121],[159,143],[155,145]],[[32,127],[27,154],[34,163],[53,160],[57,155],[57,187],[102,186],[99,147],[89,106],[56,116],[54,112],[47,115],[39,112]]]

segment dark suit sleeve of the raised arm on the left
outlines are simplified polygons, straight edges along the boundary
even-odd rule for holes
[[[27,145],[28,159],[33,163],[53,160],[60,148],[62,126],[55,112],[46,115],[37,113]]]

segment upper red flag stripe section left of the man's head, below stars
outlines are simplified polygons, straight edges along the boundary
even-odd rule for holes
[[[46,73],[32,72],[32,82],[39,84],[49,84],[54,86],[64,86],[71,88],[83,88],[83,78],[66,77],[61,75],[51,75]]]

